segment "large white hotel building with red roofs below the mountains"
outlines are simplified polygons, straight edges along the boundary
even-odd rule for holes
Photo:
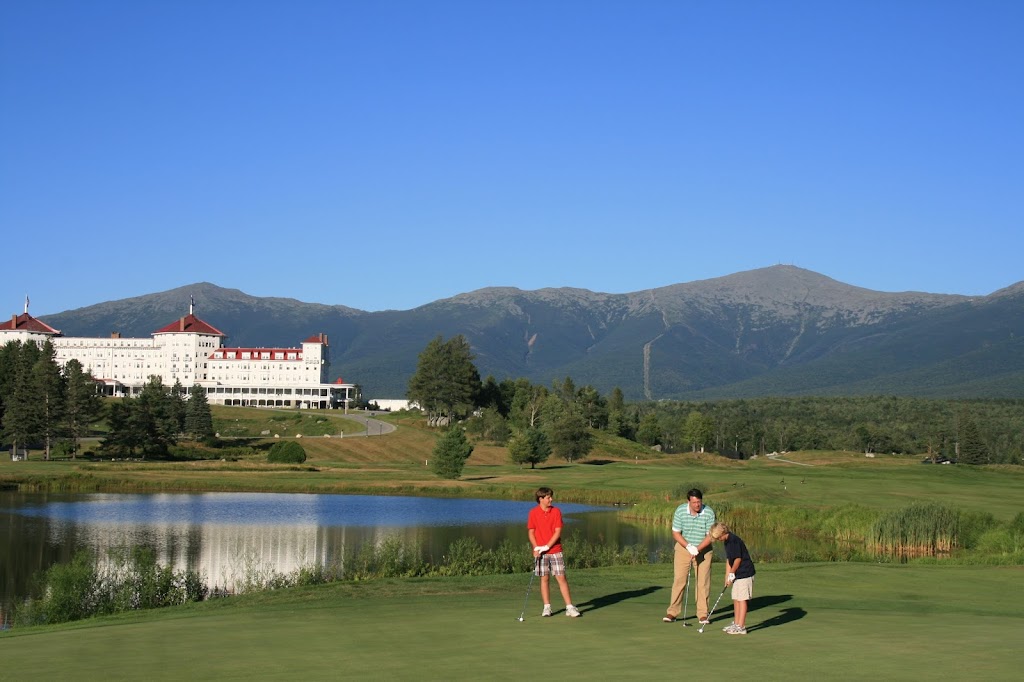
[[[181,383],[206,390],[211,404],[266,408],[348,408],[358,387],[338,379],[329,383],[330,353],[325,334],[295,348],[234,348],[222,345],[226,335],[193,314],[153,333],[148,339],[68,337],[25,312],[0,324],[0,345],[8,341],[46,339],[63,367],[77,359],[112,396],[134,396],[159,376],[165,386]]]

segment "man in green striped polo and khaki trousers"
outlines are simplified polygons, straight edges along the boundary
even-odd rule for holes
[[[684,591],[690,577],[690,566],[696,565],[696,614],[700,623],[708,622],[708,597],[711,594],[712,540],[708,532],[715,522],[715,512],[703,504],[703,494],[692,488],[686,494],[686,504],[679,505],[672,517],[672,537],[676,541],[673,556],[672,600],[665,623],[675,623],[683,610]]]

